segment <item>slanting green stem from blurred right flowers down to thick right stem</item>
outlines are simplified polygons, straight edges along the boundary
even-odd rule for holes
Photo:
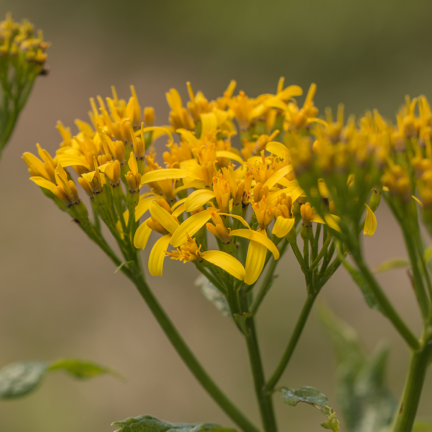
[[[352,249],[355,250],[355,249]],[[405,339],[405,342],[410,346],[413,350],[418,350],[420,348],[420,343],[417,338],[414,336],[412,331],[408,328],[408,326],[402,321],[399,314],[393,308],[393,305],[390,303],[386,294],[384,294],[380,285],[376,281],[375,277],[372,275],[366,264],[363,262],[358,253],[353,253],[353,258],[357,263],[358,269],[366,279],[369,287],[375,295],[375,298],[378,301],[381,309],[384,314],[392,321],[393,326],[399,332],[399,334]]]

